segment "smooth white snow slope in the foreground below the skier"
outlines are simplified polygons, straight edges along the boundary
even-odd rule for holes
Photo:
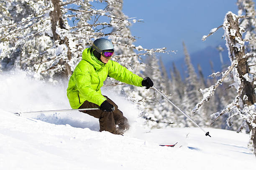
[[[197,128],[151,130],[137,137],[55,125],[0,110],[0,169],[253,169],[248,135]],[[187,135],[187,133],[189,133]],[[137,134],[138,135],[138,134]],[[182,136],[188,136],[182,141]],[[158,146],[186,142],[189,148]]]

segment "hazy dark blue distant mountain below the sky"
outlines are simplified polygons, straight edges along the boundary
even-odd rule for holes
[[[230,60],[228,58],[228,50],[226,49],[225,45],[222,44],[221,47],[223,47],[224,51],[222,52],[223,56],[223,63],[224,65],[230,64]],[[203,75],[207,77],[208,75],[212,74],[210,61],[212,61],[213,64],[213,70],[215,72],[221,71],[221,62],[220,62],[220,53],[216,49],[216,47],[206,47],[203,50],[199,50],[197,52],[189,54],[191,57],[191,62],[195,67],[195,71],[198,73],[197,65],[200,64],[202,68]],[[169,61],[166,63],[167,69],[172,69],[172,62],[176,65],[176,67],[179,69],[182,77],[187,77],[187,66],[184,61],[184,57],[182,57],[179,60],[176,61]],[[171,66],[171,68],[170,68]]]

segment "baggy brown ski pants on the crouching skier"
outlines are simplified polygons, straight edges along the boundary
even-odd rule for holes
[[[80,112],[98,118],[100,122],[100,132],[105,130],[113,134],[123,135],[124,131],[129,129],[128,120],[123,116],[123,112],[118,109],[118,106],[112,100],[107,96],[104,97],[106,97],[107,101],[115,107],[113,112],[104,112],[102,110],[82,110]],[[79,109],[97,107],[99,106],[95,103],[86,100]]]

